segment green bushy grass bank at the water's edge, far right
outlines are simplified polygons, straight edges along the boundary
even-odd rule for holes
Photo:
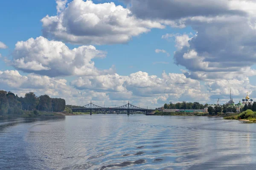
[[[256,112],[253,112],[252,110],[247,110],[240,114],[233,114],[231,116],[226,116],[224,117],[224,119],[256,122]]]

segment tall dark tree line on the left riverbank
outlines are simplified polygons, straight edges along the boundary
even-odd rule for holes
[[[50,98],[48,95],[36,96],[33,92],[19,97],[11,91],[0,91],[0,115],[22,114],[23,111],[64,111],[66,101],[60,98]]]

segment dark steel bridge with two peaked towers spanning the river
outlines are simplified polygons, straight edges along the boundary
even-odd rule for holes
[[[98,105],[94,105],[92,102],[90,102],[88,105],[84,105],[81,108],[72,108],[73,111],[90,111],[90,115],[92,115],[92,111],[116,111],[117,114],[119,114],[119,111],[127,111],[127,115],[130,115],[130,112],[133,114],[134,111],[140,111],[143,112],[145,115],[148,113],[151,113],[155,110],[153,109],[145,109],[145,108],[140,108],[134,105],[131,105],[129,102],[126,105],[119,106],[119,107],[114,107],[114,108],[106,108]]]

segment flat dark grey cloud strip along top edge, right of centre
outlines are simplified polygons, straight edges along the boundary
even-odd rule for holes
[[[143,19],[177,20],[184,17],[244,14],[229,0],[130,0],[132,14]],[[232,1],[232,0],[230,0]],[[236,0],[239,1],[239,0]]]

